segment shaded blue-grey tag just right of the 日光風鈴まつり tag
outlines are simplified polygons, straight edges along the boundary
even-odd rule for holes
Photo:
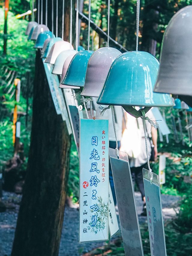
[[[125,255],[144,255],[128,155],[109,149]]]

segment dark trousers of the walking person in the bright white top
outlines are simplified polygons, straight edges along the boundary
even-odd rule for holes
[[[145,197],[145,190],[143,184],[143,168],[148,169],[147,163],[139,167],[131,167],[131,175],[133,180],[133,185],[137,184],[139,191],[141,192],[142,200]]]

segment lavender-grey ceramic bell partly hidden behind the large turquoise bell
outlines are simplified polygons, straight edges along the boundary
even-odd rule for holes
[[[111,64],[120,54],[121,52],[115,48],[102,47],[91,55],[87,65],[85,86],[81,93],[82,96],[99,96]]]

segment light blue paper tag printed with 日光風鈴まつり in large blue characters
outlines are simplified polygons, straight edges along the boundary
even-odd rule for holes
[[[109,120],[79,123],[79,242],[108,240]]]

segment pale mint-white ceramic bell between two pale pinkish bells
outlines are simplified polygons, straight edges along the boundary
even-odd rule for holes
[[[65,50],[59,53],[57,59],[55,60],[52,74],[61,75],[63,70],[63,65],[67,57],[69,57],[70,55],[74,56],[76,53],[77,53],[76,50]]]

